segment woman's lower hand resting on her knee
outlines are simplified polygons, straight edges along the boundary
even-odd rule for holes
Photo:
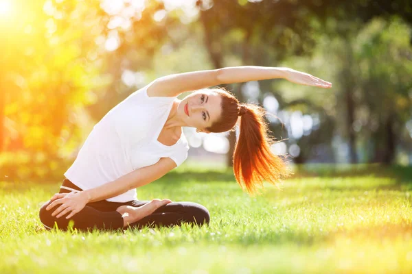
[[[53,201],[54,200],[54,201]],[[56,216],[56,218],[60,218],[61,216],[64,216],[68,212],[71,212],[69,215],[67,215],[66,219],[71,218],[74,214],[80,212],[86,206],[88,203],[89,199],[87,195],[84,195],[84,193],[80,192],[70,192],[70,193],[58,193],[50,199],[50,201],[53,201],[52,203],[47,206],[46,210],[51,210],[57,205],[60,205],[54,212],[52,213],[52,216]]]

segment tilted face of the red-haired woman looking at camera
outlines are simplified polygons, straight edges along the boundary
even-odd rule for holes
[[[203,132],[220,117],[222,98],[217,92],[199,90],[187,95],[179,104],[178,112],[187,127],[196,127]]]

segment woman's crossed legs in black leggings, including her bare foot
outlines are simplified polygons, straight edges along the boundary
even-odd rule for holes
[[[52,229],[56,223],[59,229],[67,230],[70,221],[73,221],[73,228],[87,231],[93,228],[115,230],[124,227],[171,226],[181,223],[203,225],[209,223],[210,219],[207,209],[198,203],[171,202],[169,199],[89,203],[70,219],[65,218],[69,213],[60,218],[52,216],[52,212],[58,206],[45,210],[49,203],[50,201],[44,203],[39,212],[41,222],[47,229]]]

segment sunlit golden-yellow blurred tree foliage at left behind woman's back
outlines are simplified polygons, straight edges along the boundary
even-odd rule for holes
[[[179,21],[175,14],[155,16],[164,12],[162,3],[141,3],[12,4],[14,13],[0,32],[8,37],[2,44],[8,54],[1,56],[6,71],[0,86],[6,92],[1,92],[0,127],[3,131],[7,116],[18,127],[22,144],[15,147],[12,142],[18,142],[9,136],[8,149],[53,154],[67,142],[74,149],[83,138],[78,110],[87,107],[92,119],[99,120],[134,91],[121,80],[124,69],[150,68],[152,56]]]

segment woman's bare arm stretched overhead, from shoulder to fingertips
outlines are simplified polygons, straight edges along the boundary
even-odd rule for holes
[[[194,71],[160,77],[148,87],[149,97],[174,97],[183,92],[266,79],[284,78],[296,84],[330,88],[331,83],[308,73],[271,66],[229,66],[209,71]]]

